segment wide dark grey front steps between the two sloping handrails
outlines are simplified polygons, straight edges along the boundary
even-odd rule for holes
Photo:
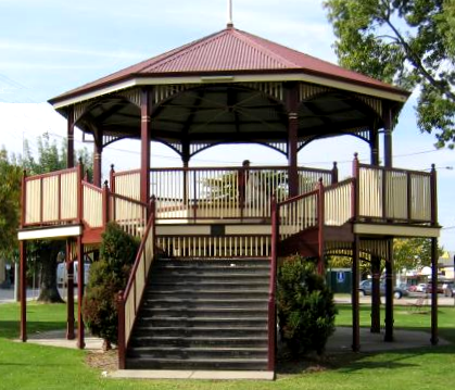
[[[270,261],[156,260],[128,369],[267,369]]]

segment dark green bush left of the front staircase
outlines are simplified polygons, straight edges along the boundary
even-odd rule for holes
[[[110,223],[102,235],[100,260],[90,267],[84,297],[84,320],[106,344],[117,342],[117,293],[124,290],[138,251],[138,241]]]

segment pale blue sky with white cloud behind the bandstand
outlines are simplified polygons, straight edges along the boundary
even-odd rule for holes
[[[226,26],[228,0],[0,0],[0,147],[21,153],[27,140],[49,133],[56,142],[65,121],[47,102],[62,92],[161,54]],[[233,24],[280,45],[337,63],[334,36],[321,0],[233,0]],[[455,250],[455,151],[437,150],[431,135],[416,125],[416,97],[403,109],[393,133],[396,167],[439,172],[440,243]],[[76,135],[76,146],[91,148]],[[264,147],[215,147],[194,156],[192,165],[286,164]],[[347,176],[354,152],[368,162],[365,142],[353,137],[313,142],[299,153],[299,164],[331,167],[339,162]],[[180,166],[164,146],[152,146],[152,166]],[[103,153],[103,174],[139,167],[139,144],[119,141]]]

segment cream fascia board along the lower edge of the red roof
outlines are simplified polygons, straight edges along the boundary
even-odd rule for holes
[[[336,89],[346,90],[351,92],[371,96],[380,99],[388,99],[404,103],[408,96],[400,93],[399,91],[392,92],[379,88],[371,88],[359,84],[351,84],[342,80],[334,80],[320,76],[307,75],[304,73],[296,74],[264,74],[264,75],[225,75],[225,76],[182,76],[182,77],[140,77],[132,78],[126,81],[114,84],[91,92],[83,93],[74,98],[68,98],[53,104],[53,108],[61,109],[71,104],[79,103],[86,100],[101,97],[103,95],[113,93],[126,88],[136,86],[159,86],[159,85],[176,85],[176,84],[200,84],[205,83],[278,83],[278,81],[304,81],[315,85],[331,87]]]

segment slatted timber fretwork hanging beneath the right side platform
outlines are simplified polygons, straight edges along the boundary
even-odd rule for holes
[[[361,239],[361,257],[371,261],[371,256],[388,259],[389,240],[362,240]],[[352,257],[352,242],[345,241],[328,241],[325,243],[326,255],[341,255]]]

